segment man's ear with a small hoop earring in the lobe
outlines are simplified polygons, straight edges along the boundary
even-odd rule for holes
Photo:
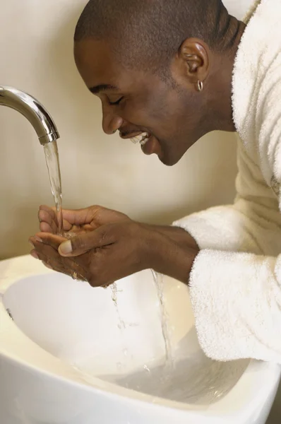
[[[188,86],[198,87],[198,81],[204,82],[210,68],[210,49],[202,40],[188,38],[185,40],[174,60],[176,78]]]

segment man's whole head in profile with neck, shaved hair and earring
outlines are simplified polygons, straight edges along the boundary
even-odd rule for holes
[[[237,37],[221,0],[90,0],[74,51],[104,131],[148,133],[143,151],[174,165],[209,131],[234,130]]]

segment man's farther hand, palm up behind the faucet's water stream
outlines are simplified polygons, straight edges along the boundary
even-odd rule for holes
[[[100,225],[117,223],[130,220],[124,213],[102,208],[102,206],[90,206],[89,208],[78,210],[66,210],[63,213],[63,235],[69,236],[83,234],[95,230]],[[40,206],[38,218],[40,220],[40,231],[58,233],[58,221],[56,208]]]

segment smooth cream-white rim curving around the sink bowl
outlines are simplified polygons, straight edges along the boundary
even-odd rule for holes
[[[280,379],[280,365],[250,360],[243,375],[229,393],[209,406],[169,401],[133,391],[132,389],[126,389],[118,384],[106,382],[97,377],[89,376],[87,381],[83,378],[85,373],[76,370],[65,361],[44,351],[37,343],[28,338],[8,316],[3,304],[4,293],[17,281],[28,276],[53,273],[54,271],[45,268],[40,261],[35,261],[29,255],[0,261],[0,275],[2,269],[5,272],[6,267],[9,275],[4,278],[0,277],[0,359],[4,358],[40,375],[60,380],[79,389],[91,391],[92,394],[100,392],[100,394],[104,393],[123,400],[125,398],[127,401],[137,402],[138,404],[150,404],[150,406],[155,406],[155,408],[176,409],[185,414],[189,413],[189,416],[194,415],[197,418],[198,416],[202,418],[216,416],[217,419],[222,418],[224,420],[230,416],[232,419],[241,419],[241,416],[245,415],[245,413],[250,413],[250,406],[251,412],[261,407],[261,404],[265,404]],[[13,343],[14,341],[16,343]],[[20,348],[18,345],[20,345]],[[19,351],[20,355],[18,354]],[[263,382],[263,385],[259,384],[261,382]]]

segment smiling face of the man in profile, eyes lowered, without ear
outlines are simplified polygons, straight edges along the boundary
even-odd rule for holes
[[[205,134],[200,96],[177,78],[177,69],[174,78],[171,67],[171,83],[136,66],[125,68],[106,42],[91,39],[77,42],[74,54],[83,81],[102,102],[106,134],[118,129],[122,138],[137,137],[143,152],[156,153],[165,165],[177,163]]]

